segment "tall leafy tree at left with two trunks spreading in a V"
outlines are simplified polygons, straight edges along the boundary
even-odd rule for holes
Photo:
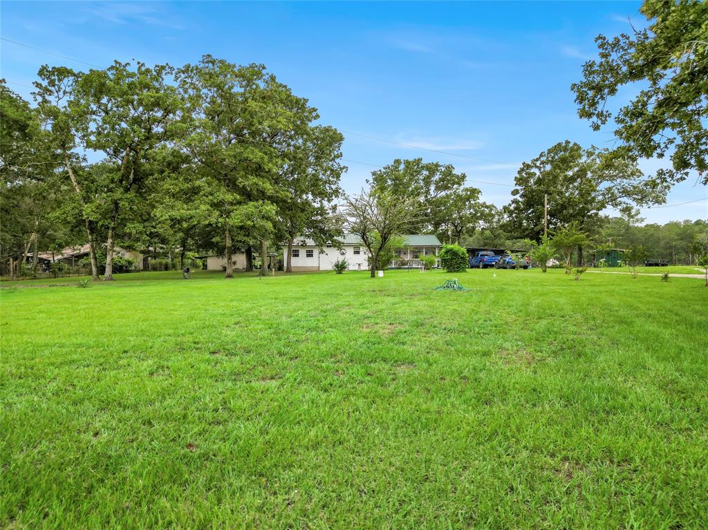
[[[113,280],[113,249],[121,210],[129,209],[129,203],[141,191],[152,151],[173,137],[173,118],[181,109],[182,100],[169,82],[172,73],[167,64],[149,68],[142,62],[118,61],[107,69],[86,74],[64,67],[44,66],[39,71],[41,81],[35,83],[35,97],[52,132],[55,151],[64,161],[81,201],[93,258],[98,220],[91,202],[97,190],[96,186],[86,190],[92,184],[90,180],[81,182],[82,153],[105,154],[105,168],[114,170],[102,173],[109,178],[101,189],[109,204],[108,217],[101,219],[108,231],[103,280]],[[94,279],[97,277],[94,270]]]

